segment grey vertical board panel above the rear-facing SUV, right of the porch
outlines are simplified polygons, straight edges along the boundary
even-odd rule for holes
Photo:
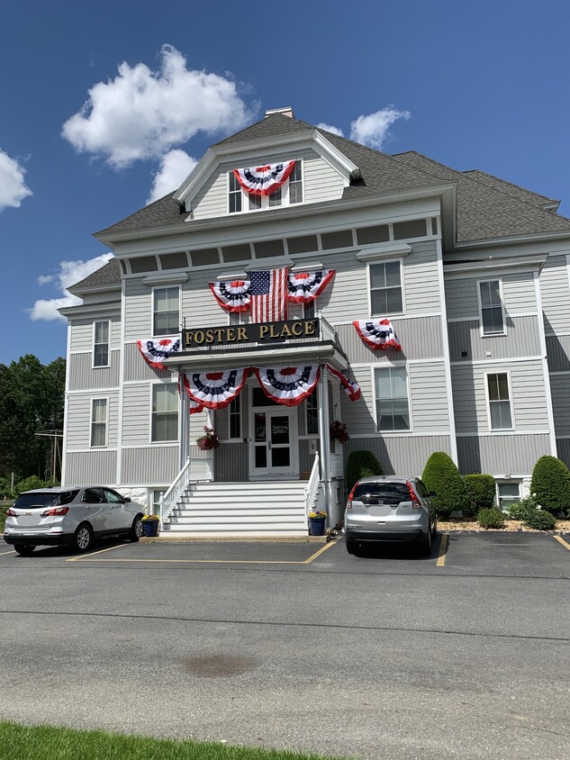
[[[350,439],[344,444],[344,448],[347,456],[350,451],[373,451],[385,475],[408,477],[421,475],[434,451],[450,454],[448,436]]]

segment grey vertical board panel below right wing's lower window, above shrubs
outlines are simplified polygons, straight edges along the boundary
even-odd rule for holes
[[[457,457],[462,475],[529,475],[537,459],[549,453],[548,435],[493,435],[457,439]]]

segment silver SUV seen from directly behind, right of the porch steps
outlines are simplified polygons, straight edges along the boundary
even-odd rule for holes
[[[363,477],[348,496],[344,529],[349,554],[359,544],[415,541],[431,554],[438,522],[432,498],[419,477]]]

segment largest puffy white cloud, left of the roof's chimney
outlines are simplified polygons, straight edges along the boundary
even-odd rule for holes
[[[106,158],[115,168],[156,158],[197,131],[236,131],[249,121],[230,77],[186,68],[171,45],[160,50],[158,71],[123,61],[119,74],[98,82],[62,135],[75,149]]]

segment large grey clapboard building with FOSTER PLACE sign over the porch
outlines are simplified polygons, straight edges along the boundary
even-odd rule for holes
[[[257,195],[264,172],[275,189]],[[64,483],[112,484],[155,510],[167,492],[165,529],[242,535],[305,532],[307,502],[338,520],[353,449],[400,475],[446,451],[462,473],[492,474],[501,502],[526,493],[538,457],[570,465],[570,220],[557,206],[481,171],[368,149],[291,109],[267,113],[213,145],[173,195],[95,235],[114,258],[61,310]],[[334,270],[311,303],[288,304],[285,330],[275,315],[227,312],[209,285],[233,288],[235,305],[250,272],[284,267]],[[383,319],[401,349],[370,348],[355,329]],[[164,369],[137,344],[178,337]],[[251,372],[223,409],[195,412],[195,395],[178,394],[179,377],[223,385],[238,370],[229,387],[249,367],[266,379],[310,367],[315,390],[274,403]],[[328,421],[346,424],[343,446]],[[204,426],[219,448],[196,446]]]

